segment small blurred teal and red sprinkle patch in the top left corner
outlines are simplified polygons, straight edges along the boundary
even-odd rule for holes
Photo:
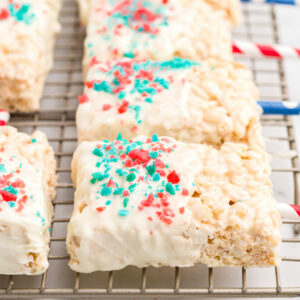
[[[30,25],[34,16],[35,15],[31,12],[30,4],[19,4],[17,1],[9,0],[6,7],[0,6],[0,21],[11,17],[16,22],[23,22]]]

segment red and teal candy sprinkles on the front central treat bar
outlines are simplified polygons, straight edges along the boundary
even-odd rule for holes
[[[177,213],[184,213],[184,207],[178,211],[171,209],[172,197],[189,195],[180,184],[180,174],[162,161],[162,155],[175,148],[176,144],[167,138],[159,139],[156,134],[145,142],[122,139],[119,135],[116,141],[97,145],[92,153],[97,158],[98,171],[90,179],[92,185],[97,185],[96,210],[102,213],[112,201],[118,201],[120,217],[130,215],[132,210],[152,209],[152,216],[145,214],[149,222],[156,217],[167,225],[172,224]],[[143,195],[138,204],[130,203],[133,193]]]

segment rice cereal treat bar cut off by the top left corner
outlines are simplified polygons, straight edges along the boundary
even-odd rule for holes
[[[0,107],[39,108],[52,65],[61,0],[1,0]]]

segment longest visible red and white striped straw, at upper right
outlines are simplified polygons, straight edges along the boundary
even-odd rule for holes
[[[300,48],[283,45],[234,41],[232,44],[232,51],[235,54],[242,54],[250,57],[269,57],[277,59],[300,58]]]

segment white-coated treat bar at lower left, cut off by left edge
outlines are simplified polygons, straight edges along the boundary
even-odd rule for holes
[[[0,274],[48,268],[56,163],[46,136],[0,127]]]

